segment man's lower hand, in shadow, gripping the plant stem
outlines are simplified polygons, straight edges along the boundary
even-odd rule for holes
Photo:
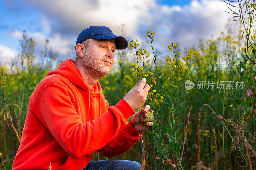
[[[143,107],[142,107],[141,110],[139,112],[135,113],[131,118],[132,126],[139,132],[143,132],[148,129],[148,126],[153,125],[153,122],[151,122],[151,120],[149,118],[150,116],[153,116],[153,113],[150,113],[149,109],[150,109],[150,106],[146,105],[144,108],[144,111],[146,113],[143,111]],[[144,120],[140,118],[141,116],[145,117],[144,120],[148,122],[148,126],[147,126],[147,123],[144,122]]]

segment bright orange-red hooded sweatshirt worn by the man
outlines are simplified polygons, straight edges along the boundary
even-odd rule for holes
[[[82,170],[97,150],[106,157],[124,153],[140,139],[127,123],[133,114],[123,99],[108,107],[99,82],[89,89],[67,59],[31,95],[12,168],[48,169],[51,162],[52,169]]]

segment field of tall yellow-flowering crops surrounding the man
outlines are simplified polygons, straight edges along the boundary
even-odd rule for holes
[[[145,169],[256,168],[256,5],[240,7],[246,12],[238,7],[234,15],[242,20],[228,21],[218,39],[197,47],[180,49],[170,40],[169,56],[161,55],[154,49],[157,32],[150,30],[144,48],[133,39],[130,48],[115,53],[116,68],[99,81],[109,105],[144,77],[151,86],[146,104],[155,116],[143,133],[145,148],[138,141],[111,159],[138,161]],[[60,63],[48,40],[36,58],[35,41],[24,32],[19,56],[0,67],[0,160],[6,169],[19,147],[29,97]],[[93,153],[93,160],[106,159]]]

